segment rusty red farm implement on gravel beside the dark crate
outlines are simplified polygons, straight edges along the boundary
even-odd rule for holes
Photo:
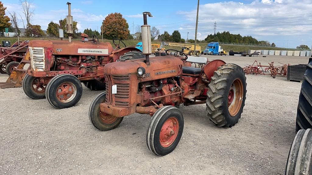
[[[287,75],[287,67],[290,64],[282,64],[278,66],[274,66],[274,62],[268,63],[268,66],[262,65],[261,63],[258,64],[258,61],[255,60],[253,64],[246,65],[243,70],[246,74],[254,74],[254,75],[271,75],[272,78],[275,78],[276,75]]]

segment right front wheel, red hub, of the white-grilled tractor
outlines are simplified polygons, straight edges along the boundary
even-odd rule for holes
[[[57,75],[46,86],[46,99],[57,109],[75,106],[81,95],[79,79],[70,74]]]

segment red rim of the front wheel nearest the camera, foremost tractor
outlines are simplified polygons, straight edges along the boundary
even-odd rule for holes
[[[179,121],[175,117],[168,118],[161,127],[159,134],[160,145],[164,148],[173,144],[179,132]]]

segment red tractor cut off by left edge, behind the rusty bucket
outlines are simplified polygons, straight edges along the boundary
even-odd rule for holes
[[[26,54],[28,41],[16,41],[10,47],[0,48],[0,73],[11,75]]]

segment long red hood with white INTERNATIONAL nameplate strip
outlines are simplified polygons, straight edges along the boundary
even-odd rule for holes
[[[30,40],[29,47],[53,48],[54,55],[98,55],[108,56],[113,48],[109,42],[72,41],[66,40]]]

